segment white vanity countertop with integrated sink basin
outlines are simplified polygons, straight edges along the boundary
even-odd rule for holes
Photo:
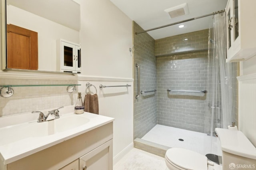
[[[42,112],[47,114],[48,110],[51,109]],[[74,105],[59,111],[60,118],[42,123],[38,123],[38,115],[31,112],[0,117],[0,161],[9,164],[114,121],[114,118],[87,112],[76,115]]]

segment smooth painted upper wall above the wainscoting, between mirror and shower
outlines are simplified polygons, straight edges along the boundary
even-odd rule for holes
[[[81,46],[82,75],[132,78],[132,20],[109,0],[81,1]]]

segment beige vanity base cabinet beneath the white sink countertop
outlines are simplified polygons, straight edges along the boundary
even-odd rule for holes
[[[113,122],[11,162],[6,169],[112,170],[112,140]]]

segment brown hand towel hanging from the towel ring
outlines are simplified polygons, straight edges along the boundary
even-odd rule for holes
[[[84,97],[84,111],[99,114],[98,95],[86,94]]]

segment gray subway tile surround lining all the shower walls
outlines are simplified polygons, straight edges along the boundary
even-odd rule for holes
[[[138,63],[141,67],[141,90],[157,87],[157,92],[134,100],[134,138],[141,138],[156,124],[208,133],[211,92],[173,93],[167,92],[167,89],[209,89],[212,76],[207,70],[209,30],[159,40],[154,40],[147,33],[135,35],[135,32],[142,30],[134,22],[134,65]],[[238,69],[235,64],[236,73]],[[134,67],[134,96],[137,82]],[[237,87],[237,80],[234,84]],[[236,92],[237,88],[233,90]],[[234,101],[237,101],[237,95]],[[236,122],[237,112],[236,105]]]

